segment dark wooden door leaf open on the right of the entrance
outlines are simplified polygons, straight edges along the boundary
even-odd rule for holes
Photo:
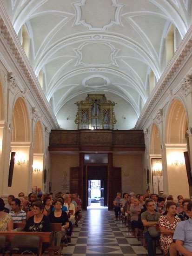
[[[108,210],[113,209],[113,200],[117,192],[121,192],[121,168],[112,167],[109,169],[108,185]]]

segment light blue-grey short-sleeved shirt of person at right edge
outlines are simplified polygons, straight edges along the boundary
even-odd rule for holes
[[[192,252],[192,219],[179,222],[172,239],[183,241],[183,247]]]

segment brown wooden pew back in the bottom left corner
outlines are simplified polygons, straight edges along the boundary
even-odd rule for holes
[[[20,223],[21,224],[21,223]],[[25,224],[25,223],[24,223]],[[42,243],[50,243],[50,232],[12,232],[12,231],[0,231],[0,235],[6,236],[6,242],[11,243],[13,240],[13,236],[15,235],[23,235],[23,243],[25,243],[25,236],[40,236],[40,256],[41,256],[41,249]],[[50,254],[44,254],[44,256],[49,256]],[[5,254],[5,256],[9,256],[9,254]],[[18,256],[18,254],[12,254],[12,256]],[[26,255],[23,255],[26,256]]]

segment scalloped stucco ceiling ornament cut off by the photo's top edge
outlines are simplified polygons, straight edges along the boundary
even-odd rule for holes
[[[111,16],[103,15],[103,17],[99,17],[99,23],[101,19],[103,20],[102,26],[95,27],[93,25],[95,23],[95,8],[92,9],[88,6],[88,1],[90,0],[80,0],[73,2],[72,5],[75,9],[75,21],[73,25],[83,25],[87,27],[88,30],[95,31],[106,31],[108,27],[112,27],[114,25],[120,25],[123,26],[121,23],[121,9],[124,7],[123,4],[119,4],[118,0],[108,0],[103,1],[103,8],[106,8],[107,13],[113,13],[114,19],[111,19]],[[92,5],[95,4],[95,7],[97,7],[97,1],[92,0]],[[84,19],[82,19],[82,16]],[[86,20],[89,20],[89,23],[86,22]]]

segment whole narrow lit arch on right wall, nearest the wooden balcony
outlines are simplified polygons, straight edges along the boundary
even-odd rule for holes
[[[163,171],[161,159],[161,142],[157,124],[152,124],[150,137],[151,191],[160,195],[163,193]]]

